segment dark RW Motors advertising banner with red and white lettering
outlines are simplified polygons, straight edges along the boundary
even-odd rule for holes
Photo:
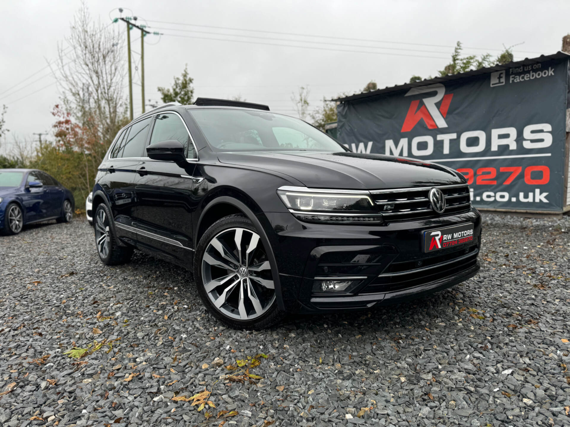
[[[561,212],[567,78],[564,59],[345,101],[338,139],[456,169],[475,207]]]

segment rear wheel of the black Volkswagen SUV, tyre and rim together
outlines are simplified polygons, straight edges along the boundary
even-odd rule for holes
[[[95,221],[95,245],[103,264],[119,265],[129,262],[133,248],[119,246],[117,243],[113,219],[106,204],[101,203],[97,206],[93,221]]]

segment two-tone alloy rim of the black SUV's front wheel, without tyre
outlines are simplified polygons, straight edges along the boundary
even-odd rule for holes
[[[258,318],[275,301],[267,253],[258,233],[247,228],[229,228],[210,240],[202,280],[210,301],[230,318]]]

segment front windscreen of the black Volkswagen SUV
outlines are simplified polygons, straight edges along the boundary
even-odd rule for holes
[[[211,147],[217,151],[346,151],[302,120],[264,111],[191,109]]]

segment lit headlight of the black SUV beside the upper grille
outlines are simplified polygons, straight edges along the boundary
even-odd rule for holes
[[[319,192],[302,187],[282,187],[277,194],[289,211],[302,221],[377,223],[382,220],[376,205],[364,192]]]

